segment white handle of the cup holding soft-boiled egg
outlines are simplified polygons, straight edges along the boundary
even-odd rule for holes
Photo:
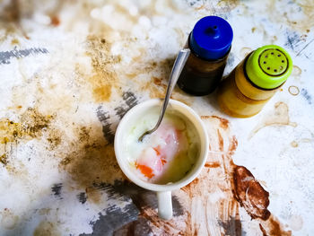
[[[157,192],[158,216],[164,220],[172,218],[171,191]]]

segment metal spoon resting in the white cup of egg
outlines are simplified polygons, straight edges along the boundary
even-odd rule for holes
[[[152,134],[161,125],[161,120],[162,120],[162,118],[166,112],[166,109],[167,109],[167,106],[168,106],[168,103],[170,100],[171,92],[172,92],[174,86],[176,85],[176,83],[179,79],[179,75],[181,74],[183,67],[186,65],[189,53],[190,53],[189,48],[184,48],[184,49],[181,49],[179,51],[179,54],[176,58],[176,61],[174,62],[173,66],[172,66],[172,71],[170,74],[170,79],[169,79],[169,83],[168,83],[168,87],[167,87],[166,97],[163,101],[162,108],[161,108],[161,114],[159,116],[157,124],[155,127],[153,127],[153,129],[144,132],[144,134],[138,138],[139,142],[143,141],[145,135]]]

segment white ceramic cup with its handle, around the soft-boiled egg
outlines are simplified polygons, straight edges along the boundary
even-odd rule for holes
[[[156,107],[161,108],[161,104],[162,100],[154,99],[144,101],[128,110],[126,115],[118,124],[114,144],[118,164],[121,170],[125,173],[126,177],[142,188],[155,191],[158,199],[158,215],[162,219],[169,220],[172,217],[171,191],[182,188],[193,181],[193,179],[196,179],[196,176],[200,173],[206,162],[209,144],[205,126],[196,112],[182,102],[170,100],[167,110],[174,110],[175,114],[189,120],[195,127],[196,134],[198,135],[200,141],[199,155],[196,159],[196,163],[185,177],[174,183],[165,185],[153,184],[137,177],[135,171],[132,170],[129,161],[126,158],[126,138],[130,133],[131,127],[135,126],[139,118],[142,118],[145,114],[147,114],[150,109],[155,109]]]

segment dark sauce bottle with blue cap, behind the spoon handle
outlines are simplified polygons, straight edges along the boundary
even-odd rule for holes
[[[221,17],[206,16],[196,22],[185,47],[191,53],[179,76],[179,88],[195,96],[214,92],[222,79],[232,38],[231,25]]]

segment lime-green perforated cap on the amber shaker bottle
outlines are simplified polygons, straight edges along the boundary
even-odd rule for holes
[[[266,45],[249,56],[246,72],[258,87],[275,89],[292,73],[292,58],[283,48]]]

